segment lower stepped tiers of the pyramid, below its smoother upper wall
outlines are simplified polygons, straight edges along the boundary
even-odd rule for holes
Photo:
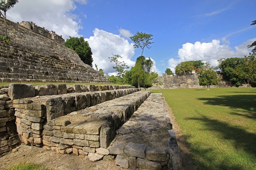
[[[0,42],[0,82],[110,82],[92,67]]]

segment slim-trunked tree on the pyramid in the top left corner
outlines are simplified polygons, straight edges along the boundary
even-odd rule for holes
[[[1,0],[0,1],[0,16],[3,16],[4,18],[4,24],[5,24],[5,36],[7,37],[7,22],[6,22],[6,11],[13,8],[16,3],[18,3],[18,0]],[[3,11],[3,12],[1,12]]]

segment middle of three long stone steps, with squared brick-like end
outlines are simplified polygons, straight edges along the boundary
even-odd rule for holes
[[[150,93],[139,91],[48,121],[42,132],[44,148],[62,154],[108,152],[106,148],[118,127],[131,117]]]

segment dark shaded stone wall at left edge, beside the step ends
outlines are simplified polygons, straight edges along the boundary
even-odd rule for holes
[[[0,157],[20,144],[8,86],[0,86]]]

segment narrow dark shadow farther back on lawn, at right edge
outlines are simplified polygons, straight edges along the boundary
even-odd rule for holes
[[[204,104],[208,105],[220,105],[230,108],[244,109],[252,112],[252,114],[256,116],[256,95],[227,95],[197,99],[205,100]]]

